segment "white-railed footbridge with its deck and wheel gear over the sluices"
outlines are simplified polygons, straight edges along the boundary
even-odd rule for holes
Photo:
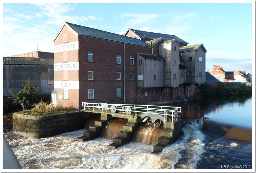
[[[154,105],[133,105],[133,104],[108,104],[108,103],[89,103],[82,102],[84,110],[92,110],[92,112],[109,112],[112,116],[130,117],[139,116],[142,122],[148,118],[151,122],[161,120],[163,122],[173,122],[177,119],[178,112],[181,112],[181,107],[172,106],[154,106]]]

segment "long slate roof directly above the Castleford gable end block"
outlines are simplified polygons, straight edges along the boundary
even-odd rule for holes
[[[86,26],[81,26],[81,25],[77,25],[77,24],[73,24],[73,23],[68,23],[68,22],[66,22],[66,23],[79,35],[148,47],[148,45],[145,42],[143,42],[139,39],[136,39],[136,38],[131,38],[131,37],[127,37],[127,36],[123,36],[123,35],[119,35],[119,34],[114,34],[111,32],[102,31],[102,30],[94,29],[94,28],[89,28]]]

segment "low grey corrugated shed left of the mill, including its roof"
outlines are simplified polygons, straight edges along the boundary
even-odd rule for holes
[[[53,58],[3,57],[3,96],[18,92],[22,84],[30,79],[39,87],[38,94],[50,94],[54,90]]]

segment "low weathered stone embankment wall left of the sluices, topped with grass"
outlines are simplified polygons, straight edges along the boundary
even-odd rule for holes
[[[89,112],[70,112],[47,115],[14,113],[13,133],[31,138],[46,138],[83,129],[91,116]]]

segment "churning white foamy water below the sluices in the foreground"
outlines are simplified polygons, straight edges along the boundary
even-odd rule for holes
[[[105,138],[76,141],[84,130],[44,139],[9,138],[9,144],[23,169],[192,169],[203,152],[203,135],[196,123],[184,128],[182,137],[159,154],[151,154],[153,145],[135,142],[109,150],[112,140]]]

